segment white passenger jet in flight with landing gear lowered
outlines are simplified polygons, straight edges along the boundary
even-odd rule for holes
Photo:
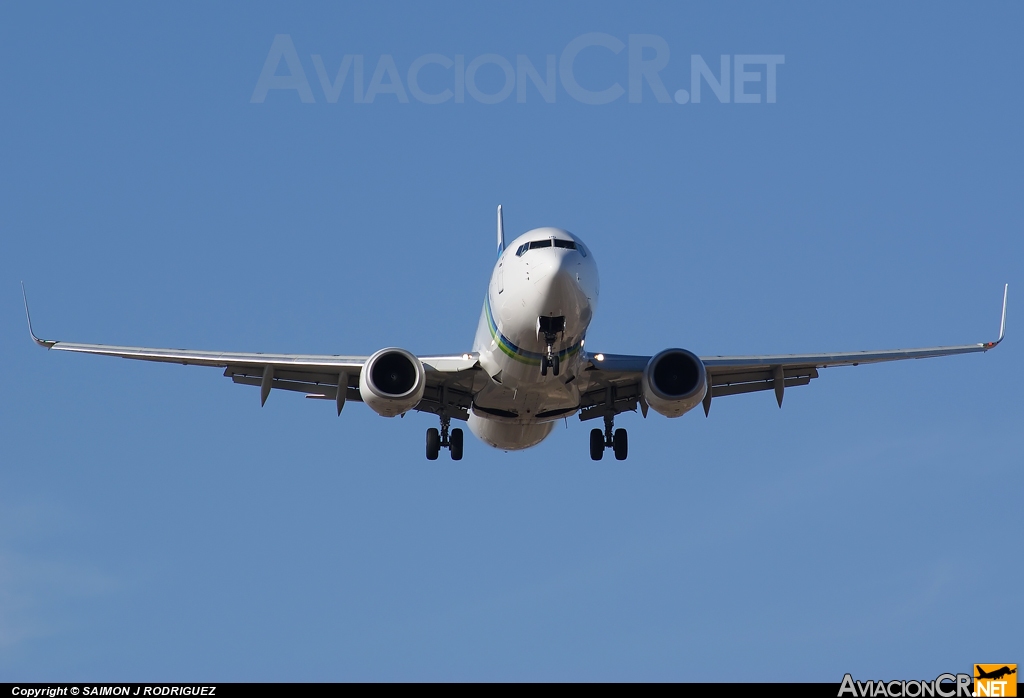
[[[223,368],[232,382],[258,387],[261,405],[272,390],[289,390],[334,401],[339,416],[349,400],[382,417],[430,412],[440,421],[439,429],[427,430],[430,461],[441,448],[452,460],[462,460],[463,431],[453,429],[452,420],[467,422],[495,448],[519,450],[541,443],[555,422],[575,415],[584,422],[603,421],[603,429],[590,433],[594,461],[608,448],[624,461],[628,436],[614,428],[614,418],[624,411],[639,409],[646,418],[652,409],[678,418],[702,405],[707,417],[713,398],[761,390],[774,390],[781,407],[787,388],[807,385],[821,368],[985,352],[1006,332],[1009,285],[994,342],[751,356],[697,356],[681,348],[652,356],[590,352],[587,329],[600,290],[594,253],[579,236],[555,227],[529,230],[506,246],[504,227],[499,206],[498,261],[472,351],[461,354],[417,356],[397,347],[370,356],[262,354],[42,340],[32,329],[23,283],[29,334],[36,344],[56,351]]]

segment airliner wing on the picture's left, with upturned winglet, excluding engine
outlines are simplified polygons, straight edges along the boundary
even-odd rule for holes
[[[234,383],[259,386],[260,397],[264,402],[271,389],[305,393],[306,397],[314,399],[334,400],[338,404],[339,412],[345,400],[361,401],[358,388],[359,373],[369,356],[159,349],[43,340],[36,337],[32,329],[27,299],[25,313],[32,340],[53,351],[223,368],[224,376]],[[451,417],[468,419],[468,409],[472,404],[473,383],[477,375],[482,375],[477,363],[477,355],[465,353],[418,358],[423,362],[427,385],[423,400],[416,409],[437,413],[441,408],[442,398],[446,397]],[[267,379],[265,382],[264,378]],[[339,400],[341,390],[344,390],[344,393]]]

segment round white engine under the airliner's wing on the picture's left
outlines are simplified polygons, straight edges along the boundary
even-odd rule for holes
[[[404,349],[381,349],[359,374],[359,396],[381,417],[403,415],[423,399],[423,362]]]

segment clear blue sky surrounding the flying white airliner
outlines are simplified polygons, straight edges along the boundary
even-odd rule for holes
[[[1021,661],[1019,4],[220,4],[0,8],[0,680],[934,678]],[[329,74],[526,55],[603,33],[783,55],[777,99],[562,83],[497,104]],[[313,103],[251,101],[289,35]],[[629,83],[588,48],[587,89]],[[647,53],[645,55],[651,55]],[[282,66],[280,73],[287,73]],[[454,69],[425,68],[439,92]],[[498,63],[476,74],[501,89]],[[424,415],[258,391],[84,342],[470,348],[510,233],[601,271],[588,349],[932,346],[679,420],[626,463],[569,420],[427,463]]]

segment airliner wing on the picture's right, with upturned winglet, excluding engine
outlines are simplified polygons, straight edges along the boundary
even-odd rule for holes
[[[785,388],[807,385],[818,378],[819,368],[988,351],[997,346],[1006,334],[1008,291],[1009,285],[1002,290],[999,337],[994,342],[847,353],[701,356],[710,389],[705,398],[705,413],[711,408],[712,398],[760,390],[774,390],[781,406]],[[609,405],[613,413],[635,411],[639,406],[646,416],[647,405],[643,400],[640,378],[650,359],[650,356],[591,354],[586,370],[591,378],[592,388],[582,396],[580,418],[588,420],[603,417],[608,413]]]

